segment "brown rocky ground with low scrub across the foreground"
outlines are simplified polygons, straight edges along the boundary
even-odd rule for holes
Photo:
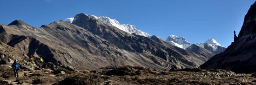
[[[54,69],[21,69],[13,77],[10,66],[0,65],[0,85],[255,85],[256,74],[224,70],[182,69],[161,71],[144,67],[105,67],[94,71],[68,66]]]

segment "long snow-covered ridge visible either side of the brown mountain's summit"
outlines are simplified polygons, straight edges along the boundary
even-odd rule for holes
[[[87,15],[87,14],[86,14]],[[100,16],[100,17],[97,17],[97,16],[94,16],[94,15],[88,15],[92,18],[95,18],[95,19],[98,19],[98,20],[101,20],[103,22],[105,22],[106,24],[108,25],[111,25],[111,26],[115,26],[119,29],[121,29],[122,31],[125,31],[127,33],[135,33],[137,35],[141,35],[141,36],[145,36],[145,37],[148,37],[149,34],[148,33],[145,33],[145,32],[142,32],[141,30],[137,30],[135,28],[135,26],[133,25],[130,25],[130,24],[120,24],[119,21],[115,20],[115,19],[111,19],[109,17],[105,17],[105,16]],[[68,22],[73,22],[74,18],[67,18],[65,19],[65,21],[68,21]]]

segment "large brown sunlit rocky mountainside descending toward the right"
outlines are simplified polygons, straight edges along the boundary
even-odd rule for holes
[[[0,41],[26,56],[38,55],[55,65],[81,69],[123,65],[194,68],[208,59],[156,36],[149,39],[124,32],[84,13],[77,14],[72,24],[55,21],[40,28],[15,20],[0,25]]]

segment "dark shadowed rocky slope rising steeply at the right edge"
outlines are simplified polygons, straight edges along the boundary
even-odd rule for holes
[[[256,3],[245,15],[238,39],[225,52],[209,59],[201,68],[225,69],[234,72],[256,72]]]

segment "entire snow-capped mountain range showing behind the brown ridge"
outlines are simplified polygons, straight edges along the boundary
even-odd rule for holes
[[[145,36],[145,37],[148,37],[148,38],[152,37],[152,35],[149,35],[148,33],[142,32],[141,30],[137,30],[135,28],[135,26],[133,26],[133,25],[120,24],[118,20],[111,19],[109,17],[105,17],[105,16],[97,17],[97,16],[94,16],[94,15],[88,15],[88,16],[93,17],[93,18],[98,19],[98,20],[101,20],[101,21],[105,22],[108,25],[115,26],[115,27],[121,29],[122,31],[125,31],[125,32],[130,33],[130,34],[135,33],[137,35]],[[74,20],[74,17],[65,19],[65,21],[70,22],[70,23],[72,23],[73,20]],[[160,37],[158,37],[158,38],[160,38]],[[160,39],[162,39],[162,38],[160,38]],[[186,48],[188,48],[189,46],[192,45],[188,41],[186,41],[185,38],[179,37],[179,36],[176,36],[176,35],[168,36],[168,38],[165,41],[169,42],[170,44],[172,44],[174,46],[185,49],[185,50],[186,50]],[[204,43],[196,43],[195,45],[200,46],[200,47],[202,47],[202,48],[204,48],[204,49],[206,49],[210,52],[213,52],[214,54],[224,52],[225,49],[226,49],[225,47],[221,46],[215,39],[208,39]],[[195,47],[195,46],[192,46],[192,47]]]

